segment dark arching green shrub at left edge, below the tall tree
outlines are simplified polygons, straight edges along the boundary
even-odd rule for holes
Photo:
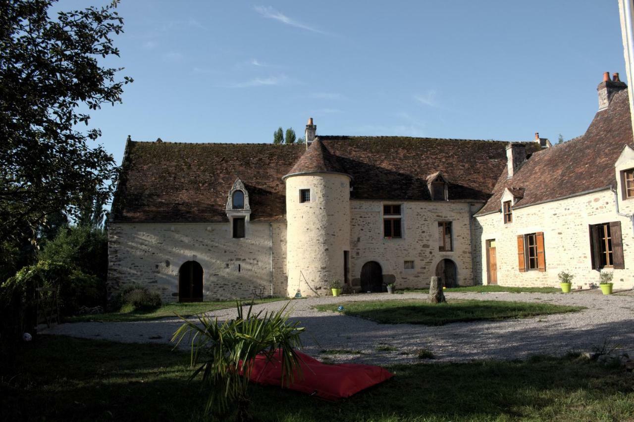
[[[100,281],[96,276],[61,262],[40,261],[23,267],[0,285],[0,332],[8,336],[32,332],[36,325],[36,288],[57,290],[62,316],[73,315],[82,305],[101,304]],[[44,299],[53,293],[44,293]]]

